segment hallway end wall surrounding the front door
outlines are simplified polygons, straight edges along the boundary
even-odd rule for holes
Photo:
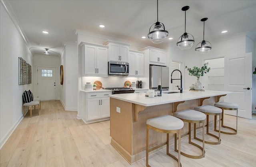
[[[34,55],[33,61],[33,82],[37,83],[37,67],[55,67],[56,68],[56,90],[57,90],[57,99],[60,99],[60,58],[56,56],[48,55]],[[37,84],[34,84],[34,92],[38,96]]]

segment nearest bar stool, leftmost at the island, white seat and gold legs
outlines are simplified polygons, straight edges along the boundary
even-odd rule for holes
[[[170,115],[165,115],[165,116],[160,116],[152,119],[148,119],[147,122],[147,136],[146,136],[146,166],[150,167],[148,164],[148,153],[150,151],[153,151],[154,149],[157,149],[159,147],[162,147],[163,145],[166,145],[166,154],[175,159],[178,162],[178,167],[181,167],[180,163],[180,151],[178,152],[178,158],[176,158],[174,155],[169,153],[169,134],[179,134],[179,150],[180,150],[180,133],[181,130],[184,126],[184,123],[182,120],[170,116]],[[166,142],[156,145],[151,147],[150,149],[148,148],[148,133],[149,129],[152,129],[156,132],[161,132],[161,133],[166,133]]]

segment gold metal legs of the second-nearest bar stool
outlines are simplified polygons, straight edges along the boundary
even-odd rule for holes
[[[182,119],[181,119],[182,120]],[[184,122],[188,122],[188,120],[183,120]],[[193,121],[194,123],[195,121]],[[205,126],[204,124],[204,120],[203,121],[198,121],[196,123],[203,123],[203,127]],[[196,123],[194,123],[194,139],[195,139],[195,134],[196,134]],[[183,136],[182,136],[183,137]],[[180,137],[178,138],[180,139]],[[180,142],[180,141],[179,141]],[[196,144],[196,143],[193,143],[191,141],[191,122],[188,122],[188,143],[200,148],[202,150],[202,155],[190,155],[190,154],[187,154],[187,153],[184,153],[182,151],[180,151],[180,148],[177,149],[177,135],[174,134],[174,148],[175,148],[175,151],[178,152],[180,151],[180,154],[181,155],[184,155],[186,157],[189,157],[189,158],[193,158],[193,159],[200,159],[200,158],[203,158],[205,156],[205,150],[204,150],[204,128],[203,128],[203,139],[202,139],[202,145],[203,147],[201,147],[200,145]]]

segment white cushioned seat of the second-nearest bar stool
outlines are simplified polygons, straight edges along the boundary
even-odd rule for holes
[[[174,116],[184,119],[184,120],[192,120],[192,121],[201,121],[205,120],[206,115],[202,112],[195,110],[184,110],[180,112],[175,112]]]

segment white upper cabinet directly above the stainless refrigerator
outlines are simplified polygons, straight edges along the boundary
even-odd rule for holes
[[[144,51],[145,56],[149,56],[150,64],[166,65],[167,51],[154,47],[145,47],[140,51]]]

